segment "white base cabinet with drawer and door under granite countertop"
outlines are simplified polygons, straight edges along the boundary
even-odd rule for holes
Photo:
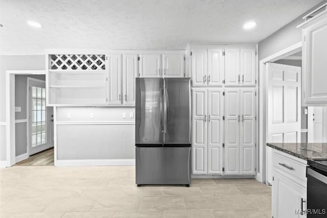
[[[306,217],[306,161],[273,150],[272,217]]]

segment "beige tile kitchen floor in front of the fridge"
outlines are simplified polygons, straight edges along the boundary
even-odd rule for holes
[[[6,217],[271,217],[271,188],[254,179],[135,185],[133,166],[13,166],[0,170]]]

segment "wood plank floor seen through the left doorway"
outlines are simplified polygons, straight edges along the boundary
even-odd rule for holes
[[[16,163],[16,166],[53,166],[54,149],[48,149]]]

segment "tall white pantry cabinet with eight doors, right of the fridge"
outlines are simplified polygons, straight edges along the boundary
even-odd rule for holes
[[[186,49],[194,175],[256,174],[255,63],[253,45],[191,44]]]

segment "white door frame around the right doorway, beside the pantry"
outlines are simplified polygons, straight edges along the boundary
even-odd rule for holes
[[[268,184],[267,179],[267,151],[266,142],[268,138],[268,76],[266,63],[274,62],[278,59],[285,58],[302,50],[302,41],[293,44],[273,55],[270,55],[259,61],[259,152],[258,161],[259,169],[255,177],[256,180]]]

